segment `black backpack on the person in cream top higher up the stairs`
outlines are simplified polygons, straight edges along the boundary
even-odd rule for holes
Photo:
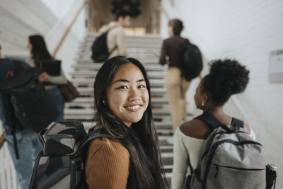
[[[91,46],[92,55],[91,58],[93,62],[105,62],[110,54],[117,48],[117,45],[108,52],[107,46],[107,35],[110,30],[99,35],[96,40],[94,40],[93,45]]]

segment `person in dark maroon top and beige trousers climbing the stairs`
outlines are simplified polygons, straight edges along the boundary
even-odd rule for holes
[[[166,64],[166,57],[169,58],[169,67],[165,76],[166,91],[171,110],[173,132],[180,126],[181,121],[186,118],[185,93],[190,82],[181,76],[180,64],[182,63],[182,49],[185,39],[180,36],[183,30],[183,22],[175,18],[168,22],[168,33],[170,38],[163,41],[159,64]],[[173,144],[173,137],[168,138]]]

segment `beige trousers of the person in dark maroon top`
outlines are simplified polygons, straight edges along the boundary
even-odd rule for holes
[[[185,93],[190,86],[190,81],[186,81],[180,74],[178,67],[169,67],[165,76],[173,132],[180,126],[181,121],[185,120],[187,114]]]

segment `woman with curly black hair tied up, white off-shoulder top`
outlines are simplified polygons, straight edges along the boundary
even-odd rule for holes
[[[195,93],[195,104],[203,114],[213,115],[223,125],[236,120],[224,112],[224,104],[233,94],[242,93],[249,81],[249,71],[236,60],[212,62],[209,74],[200,81]],[[183,188],[186,174],[197,166],[204,140],[213,129],[197,117],[183,123],[175,132],[172,188]],[[255,133],[246,124],[244,129],[255,139]],[[190,156],[189,156],[190,154]]]

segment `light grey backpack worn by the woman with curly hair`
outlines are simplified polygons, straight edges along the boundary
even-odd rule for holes
[[[214,130],[195,171],[190,166],[190,189],[265,189],[265,150],[243,130],[243,121],[233,118],[231,125],[222,125],[207,112],[197,119]]]

